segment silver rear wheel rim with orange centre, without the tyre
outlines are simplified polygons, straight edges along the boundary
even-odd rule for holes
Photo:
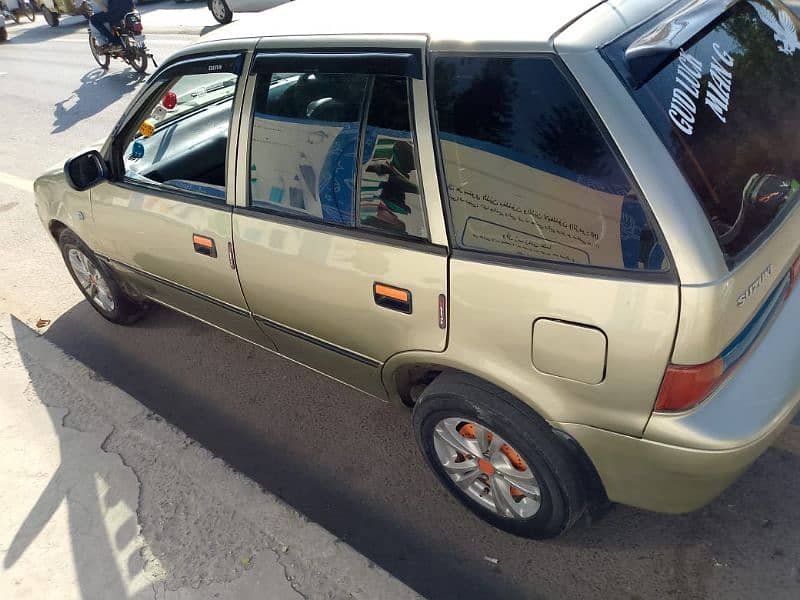
[[[434,428],[433,444],[444,471],[473,502],[510,519],[539,512],[539,482],[519,452],[488,427],[448,417]]]

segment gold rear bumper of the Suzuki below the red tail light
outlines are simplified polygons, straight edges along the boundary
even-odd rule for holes
[[[556,423],[586,451],[609,499],[666,513],[716,498],[791,423],[800,406],[800,289],[778,309],[749,356],[686,413],[654,413],[643,438]]]

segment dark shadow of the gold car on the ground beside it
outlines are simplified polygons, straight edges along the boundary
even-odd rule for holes
[[[483,524],[427,472],[408,411],[165,309],[86,303],[46,338],[428,598],[795,598],[800,431],[709,507],[617,507],[550,542]],[[158,556],[159,544],[151,540]]]

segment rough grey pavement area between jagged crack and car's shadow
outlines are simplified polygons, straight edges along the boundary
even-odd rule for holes
[[[123,522],[115,539],[130,546],[133,531],[136,556],[128,566],[143,563],[148,597],[219,590],[245,598],[263,592],[264,581],[276,599],[418,597],[122,390],[18,321],[12,325],[9,335],[0,323],[0,340],[24,355],[40,401],[67,411],[63,427],[100,434],[99,450],[135,481],[127,500],[135,529]],[[104,501],[119,504],[113,489]],[[127,533],[119,533],[123,527]]]

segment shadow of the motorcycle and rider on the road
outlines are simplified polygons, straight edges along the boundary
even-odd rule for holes
[[[89,52],[88,45],[86,52]],[[77,89],[56,103],[51,133],[60,133],[96,115],[135,90],[146,79],[147,75],[136,73],[132,69],[115,73],[108,73],[100,68],[92,69],[81,77],[81,85]]]

